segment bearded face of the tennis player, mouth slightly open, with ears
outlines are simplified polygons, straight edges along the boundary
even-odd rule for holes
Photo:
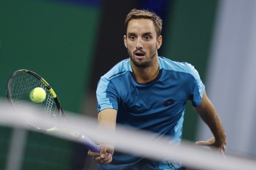
[[[124,35],[124,45],[137,67],[150,67],[157,59],[157,49],[160,48],[162,37],[158,37],[155,26],[150,19],[132,19],[127,27],[127,37]]]

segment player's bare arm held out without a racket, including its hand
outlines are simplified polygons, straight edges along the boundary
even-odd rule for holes
[[[201,119],[208,125],[214,136],[208,141],[198,141],[196,144],[215,146],[218,147],[221,152],[224,152],[226,150],[224,145],[227,144],[226,133],[221,124],[219,115],[211,101],[208,99],[206,92],[203,94],[203,99],[200,106],[195,107],[194,109],[200,115]]]

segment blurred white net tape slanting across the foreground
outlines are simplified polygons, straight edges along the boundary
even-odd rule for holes
[[[256,161],[239,156],[226,155],[226,159],[217,156],[215,152],[209,151],[204,147],[195,146],[194,143],[183,141],[179,147],[168,145],[163,140],[152,140],[152,135],[147,131],[138,131],[124,128],[117,125],[116,133],[97,128],[97,120],[91,117],[85,117],[78,114],[68,114],[69,123],[62,121],[48,120],[44,117],[35,116],[31,111],[19,108],[19,111],[8,106],[7,103],[0,102],[0,124],[8,127],[28,129],[24,124],[27,121],[36,122],[39,125],[50,124],[58,127],[65,127],[86,135],[95,143],[100,141],[115,141],[116,150],[132,153],[140,156],[146,156],[150,159],[162,160],[166,158],[180,159],[184,165],[202,170],[253,170],[256,168]],[[57,135],[60,138],[73,140],[65,134]],[[87,154],[87,153],[84,153]]]

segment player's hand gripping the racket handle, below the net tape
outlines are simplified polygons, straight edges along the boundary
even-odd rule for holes
[[[111,163],[112,155],[114,153],[113,145],[99,145],[100,153],[88,151],[88,155],[92,156],[93,159],[99,164],[106,165]]]

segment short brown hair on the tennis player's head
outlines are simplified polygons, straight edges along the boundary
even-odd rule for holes
[[[154,21],[155,29],[157,32],[157,38],[161,35],[162,20],[154,12],[150,12],[148,10],[132,9],[132,11],[130,11],[129,14],[127,15],[124,22],[125,32],[127,32],[128,24],[132,19],[151,19],[152,21]]]

